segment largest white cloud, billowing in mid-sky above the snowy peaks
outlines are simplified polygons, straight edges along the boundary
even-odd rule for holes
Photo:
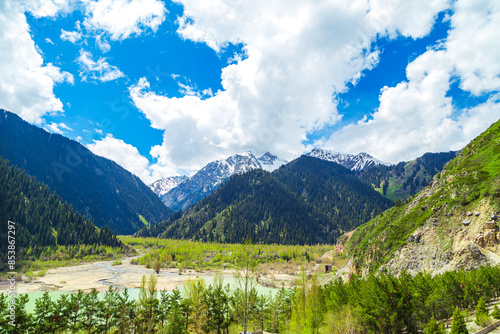
[[[156,94],[145,78],[130,88],[152,126],[165,130],[163,144],[151,154],[160,165],[180,168],[199,168],[246,150],[293,158],[304,150],[308,133],[338,122],[335,96],[377,65],[376,38],[421,37],[449,5],[443,0],[178,2],[184,6],[178,19],[183,38],[216,52],[242,44],[245,53],[222,70],[223,89],[205,99],[187,89],[181,98]]]

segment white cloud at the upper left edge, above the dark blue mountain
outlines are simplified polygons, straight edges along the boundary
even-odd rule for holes
[[[44,65],[24,13],[52,16],[67,7],[66,1],[0,1],[0,101],[2,108],[32,123],[41,123],[47,113],[63,111],[53,88],[73,78],[52,64]]]

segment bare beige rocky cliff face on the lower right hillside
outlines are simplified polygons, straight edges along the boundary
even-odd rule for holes
[[[484,202],[473,211],[456,207],[440,212],[418,227],[380,269],[396,274],[402,270],[437,274],[500,265],[498,216],[499,212]]]

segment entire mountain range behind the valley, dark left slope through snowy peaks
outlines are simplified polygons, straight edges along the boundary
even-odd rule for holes
[[[246,152],[210,162],[191,177],[165,178],[148,188],[79,143],[0,110],[0,156],[47,184],[97,226],[108,225],[120,234],[146,225],[151,227],[140,235],[333,242],[342,231],[424,188],[455,155],[426,154],[389,165],[366,153],[313,149],[287,163],[269,152],[259,158]],[[300,233],[292,235],[288,229]]]

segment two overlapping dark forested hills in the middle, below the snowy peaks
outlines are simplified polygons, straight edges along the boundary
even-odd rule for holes
[[[186,212],[136,235],[217,242],[250,238],[255,243],[333,243],[342,230],[355,228],[392,205],[351,170],[302,156],[273,173],[257,168],[236,173]]]

